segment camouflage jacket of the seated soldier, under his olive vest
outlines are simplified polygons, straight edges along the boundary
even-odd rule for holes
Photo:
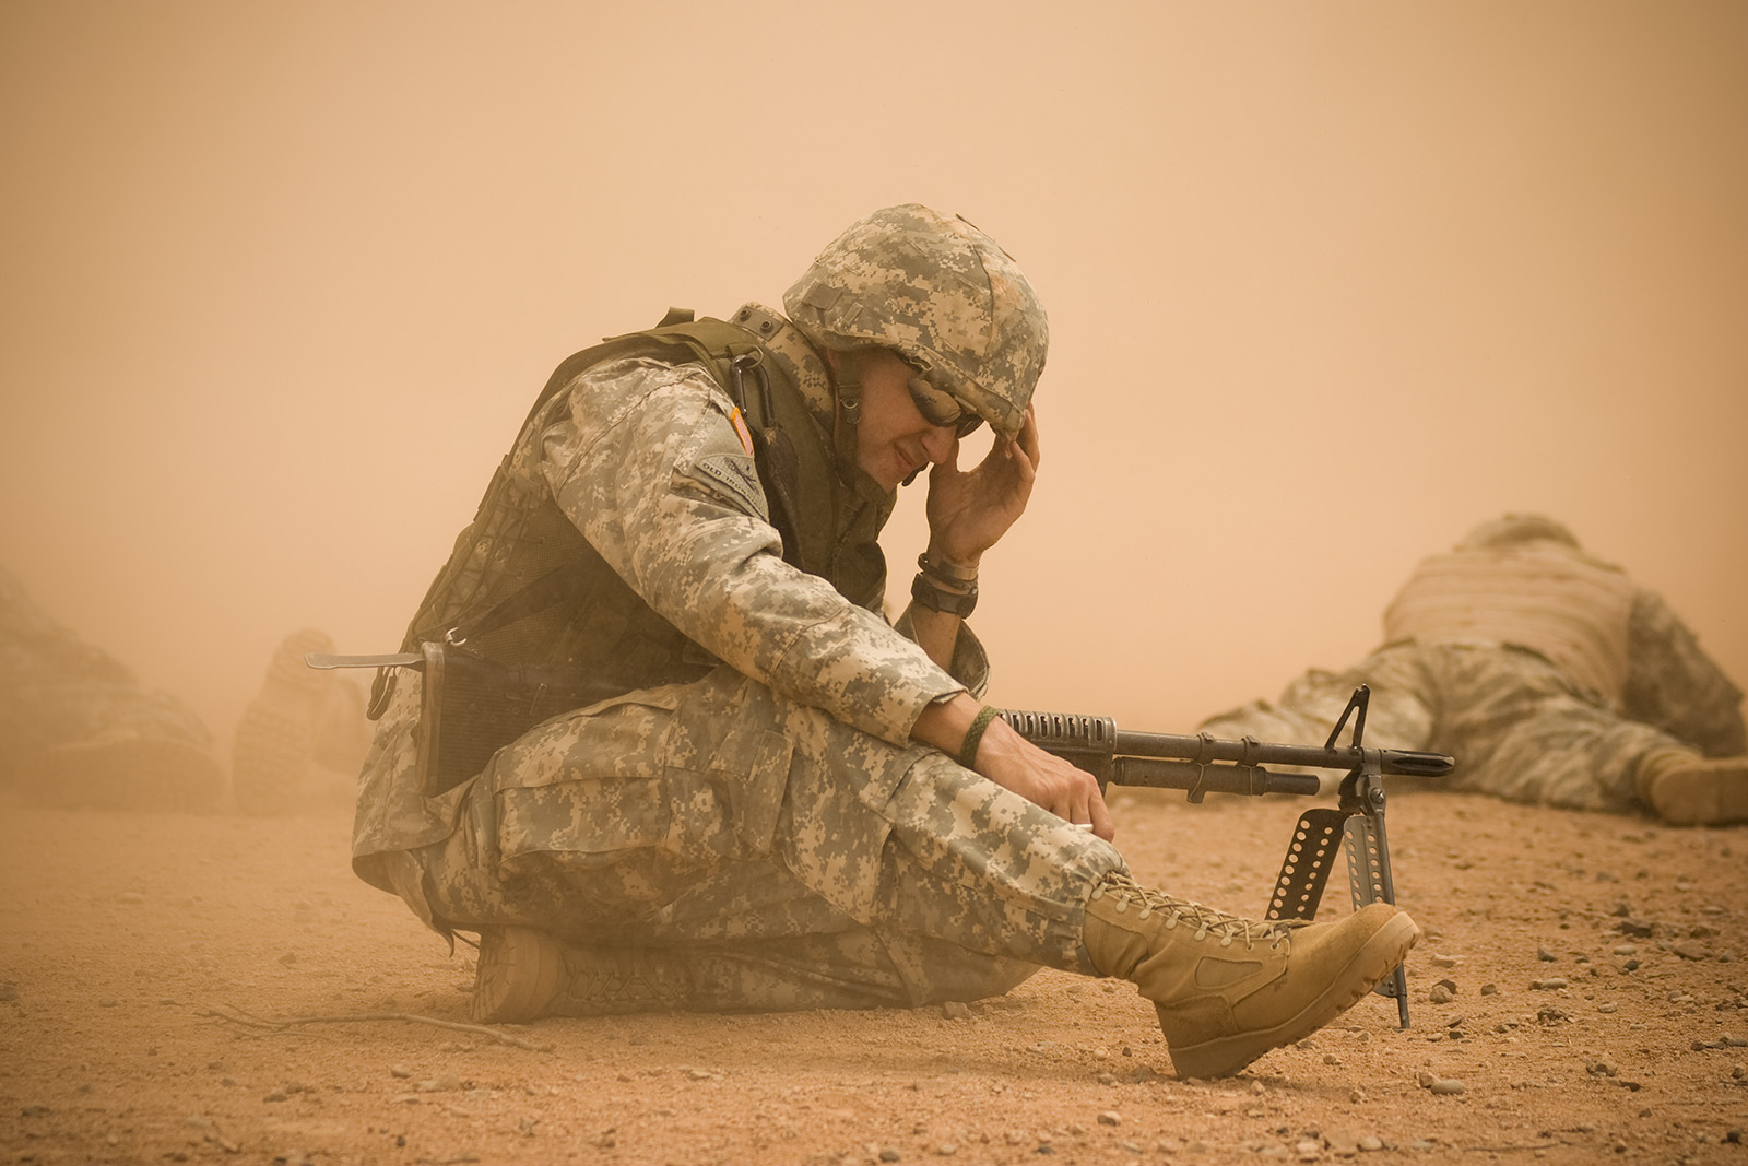
[[[732,320],[781,362],[829,435],[830,383],[815,350],[757,304]],[[900,635],[905,619],[895,629],[881,614],[884,563],[872,535],[890,495],[843,491],[839,540],[869,538],[860,566],[837,573],[858,594],[781,558],[745,428],[699,364],[628,357],[586,369],[530,418],[500,477],[514,498],[500,505],[488,493],[439,580],[465,580],[477,610],[537,570],[528,563],[542,549],[561,547],[605,565],[612,586],[601,591],[619,596],[503,629],[488,654],[507,663],[587,663],[579,652],[600,649],[582,647],[612,643],[619,673],[631,661],[638,684],[689,680],[720,663],[893,745],[909,743],[928,703],[986,684],[968,628],[949,675]],[[360,778],[353,855],[378,885],[386,876],[369,858],[447,837],[468,788],[418,788],[416,692],[416,673],[400,673]]]

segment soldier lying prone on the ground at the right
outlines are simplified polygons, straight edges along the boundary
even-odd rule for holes
[[[1657,594],[1550,517],[1482,523],[1397,593],[1384,647],[1201,727],[1321,739],[1358,684],[1372,689],[1367,745],[1453,753],[1447,788],[1748,822],[1741,691]]]

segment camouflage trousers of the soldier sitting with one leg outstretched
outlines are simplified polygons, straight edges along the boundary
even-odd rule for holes
[[[1092,974],[1086,830],[722,668],[558,717],[500,750],[414,851],[439,921],[517,923],[680,961],[711,1010],[1000,995]]]

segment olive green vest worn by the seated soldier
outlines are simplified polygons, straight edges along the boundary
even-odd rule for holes
[[[407,626],[404,652],[421,642],[465,642],[493,661],[584,675],[619,691],[696,680],[718,663],[607,565],[531,462],[517,460],[561,390],[589,367],[624,357],[701,364],[748,420],[783,558],[879,610],[886,563],[876,538],[890,500],[865,502],[843,481],[785,362],[752,332],[669,313],[662,325],[586,348],[552,372]],[[378,675],[372,718],[386,708],[392,684],[392,670]]]

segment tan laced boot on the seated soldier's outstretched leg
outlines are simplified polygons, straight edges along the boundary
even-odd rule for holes
[[[1080,942],[1154,1002],[1180,1077],[1225,1077],[1341,1016],[1418,939],[1390,904],[1339,923],[1253,923],[1108,874]]]

